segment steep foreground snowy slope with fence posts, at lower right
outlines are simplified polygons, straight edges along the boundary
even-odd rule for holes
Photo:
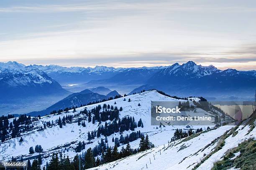
[[[222,126],[215,130],[210,130],[207,133],[202,133],[178,145],[177,143],[180,140],[169,143],[169,147],[168,144],[160,145],[151,150],[91,168],[90,170],[191,170],[205,155],[208,155],[215,148],[217,143],[211,144],[211,142],[233,127],[230,125]],[[197,170],[210,170],[213,163],[220,160],[228,149],[237,147],[238,143],[248,138],[256,138],[256,128],[246,135],[249,126],[247,125],[243,129],[242,127],[240,126],[238,128],[238,134],[236,136],[232,137],[230,135],[225,140],[226,143],[223,148],[202,163]]]

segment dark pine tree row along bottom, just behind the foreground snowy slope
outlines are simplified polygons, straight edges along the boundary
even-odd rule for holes
[[[30,160],[28,160],[27,170],[79,170],[79,168],[81,168],[81,170],[84,170],[100,166],[104,163],[110,163],[120,158],[125,158],[127,156],[150,149],[152,147],[154,147],[154,145],[151,144],[151,142],[148,140],[148,135],[146,135],[146,138],[144,138],[144,136],[142,135],[140,146],[138,149],[132,149],[130,143],[127,143],[126,147],[122,147],[120,152],[118,152],[117,145],[115,145],[114,147],[108,147],[108,145],[106,146],[104,140],[102,139],[101,143],[95,146],[95,148],[101,148],[100,157],[97,156],[99,154],[95,152],[95,148],[89,148],[81,155],[75,155],[73,160],[70,160],[68,156],[63,157],[62,153],[54,153],[51,156],[50,162],[47,162],[46,166],[41,169],[42,160],[41,155],[39,155],[37,159],[33,160],[32,165]],[[97,158],[95,159],[95,157]]]

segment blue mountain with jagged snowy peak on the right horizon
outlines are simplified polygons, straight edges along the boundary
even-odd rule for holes
[[[180,66],[176,63],[148,78],[145,85],[130,94],[156,88],[179,96],[253,97],[256,90],[254,72],[235,69],[222,71],[212,65],[202,66],[192,61]]]

